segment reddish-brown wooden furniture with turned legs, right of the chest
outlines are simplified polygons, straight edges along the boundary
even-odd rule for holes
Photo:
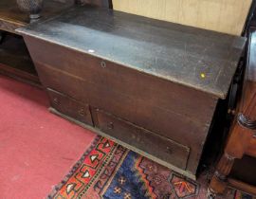
[[[256,195],[256,29],[251,29],[244,93],[229,140],[210,182],[210,193],[228,186]]]

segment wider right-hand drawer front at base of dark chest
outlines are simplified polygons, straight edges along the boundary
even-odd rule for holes
[[[182,170],[186,170],[190,154],[189,147],[139,128],[130,122],[116,118],[99,109],[95,110],[95,112],[96,126],[105,134],[118,138],[147,154],[151,154]]]

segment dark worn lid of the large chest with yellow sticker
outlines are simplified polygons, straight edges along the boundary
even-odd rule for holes
[[[221,99],[246,43],[242,37],[92,7],[75,7],[18,31]]]

